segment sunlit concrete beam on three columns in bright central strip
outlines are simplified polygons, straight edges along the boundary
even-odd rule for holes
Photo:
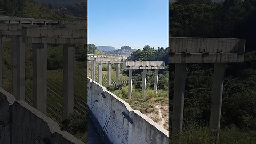
[[[142,72],[142,92],[146,91],[147,70],[155,70],[154,90],[157,91],[158,72],[159,69],[164,69],[165,62],[163,61],[124,61],[123,68],[129,70],[128,82],[128,98],[132,98],[132,70],[143,70]]]

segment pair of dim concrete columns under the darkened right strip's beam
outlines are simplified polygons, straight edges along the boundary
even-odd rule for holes
[[[214,64],[210,128],[219,131],[225,63]],[[186,64],[175,64],[172,131],[182,132]],[[217,137],[219,133],[217,132]]]

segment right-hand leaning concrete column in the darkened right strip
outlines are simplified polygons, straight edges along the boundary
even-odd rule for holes
[[[219,139],[221,103],[223,92],[223,81],[225,73],[224,63],[215,63],[212,86],[212,106],[210,117],[210,129],[216,130],[217,141]]]

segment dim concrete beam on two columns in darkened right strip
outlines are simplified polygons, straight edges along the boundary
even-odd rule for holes
[[[169,64],[175,64],[172,133],[182,132],[186,64],[215,63],[210,128],[218,142],[225,63],[243,62],[244,52],[244,39],[169,38]]]

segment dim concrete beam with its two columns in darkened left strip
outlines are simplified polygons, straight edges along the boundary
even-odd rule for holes
[[[63,44],[62,119],[74,112],[74,45],[86,44],[86,29],[22,27],[22,40],[33,44],[33,106],[47,113],[47,44]]]

